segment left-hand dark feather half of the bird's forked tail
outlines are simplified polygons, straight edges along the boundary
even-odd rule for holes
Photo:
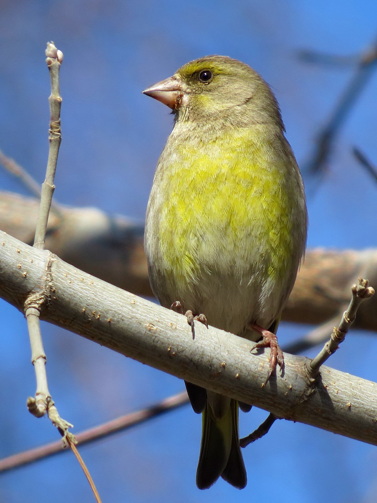
[[[203,412],[202,442],[197,469],[197,486],[199,489],[211,487],[220,477],[228,462],[229,445],[226,445],[226,440],[231,434],[231,430],[226,428],[228,432],[224,432],[223,427],[227,426],[224,423],[229,418],[230,414],[227,413],[221,420],[216,420],[209,404],[207,404]]]

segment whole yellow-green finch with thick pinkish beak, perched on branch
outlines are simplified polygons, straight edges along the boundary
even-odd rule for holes
[[[170,107],[174,127],[149,197],[149,279],[165,307],[282,353],[280,313],[305,252],[307,210],[300,171],[276,99],[247,64],[226,56],[191,61],[145,91]],[[219,351],[221,349],[219,348]],[[238,406],[186,383],[203,412],[200,489],[221,476],[246,485]]]

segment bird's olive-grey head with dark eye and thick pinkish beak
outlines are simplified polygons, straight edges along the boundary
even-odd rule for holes
[[[171,108],[177,121],[273,122],[284,128],[267,83],[250,66],[227,56],[190,61],[143,93]]]

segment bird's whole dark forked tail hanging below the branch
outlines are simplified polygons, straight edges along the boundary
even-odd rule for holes
[[[242,489],[247,482],[245,465],[239,447],[238,402],[219,419],[207,402],[203,411],[202,442],[197,470],[197,486],[207,489],[219,477]]]

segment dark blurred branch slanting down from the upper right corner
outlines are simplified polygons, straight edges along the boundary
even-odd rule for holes
[[[323,59],[323,55],[320,58]],[[313,55],[312,55],[313,58]],[[334,58],[331,56],[331,58]],[[311,160],[303,171],[310,174],[321,174],[327,169],[327,161],[333,148],[333,142],[340,127],[349,115],[361,91],[370,78],[377,62],[377,42],[358,58],[358,64],[348,85],[343,90],[335,109],[321,129]]]

